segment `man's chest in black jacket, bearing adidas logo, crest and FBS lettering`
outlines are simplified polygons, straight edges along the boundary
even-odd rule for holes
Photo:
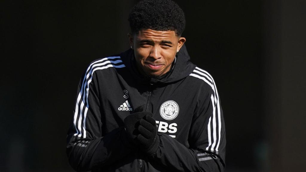
[[[195,95],[184,84],[137,89],[117,83],[109,90],[113,91],[102,93],[100,97],[101,113],[105,114],[103,129],[106,132],[122,126],[126,116],[143,107],[143,110],[152,112],[158,133],[186,142],[197,102]]]

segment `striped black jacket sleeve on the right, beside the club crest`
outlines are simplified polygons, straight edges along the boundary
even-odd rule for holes
[[[174,138],[159,133],[160,145],[153,161],[171,171],[224,171],[225,126],[217,95],[208,93],[193,116],[189,148]]]

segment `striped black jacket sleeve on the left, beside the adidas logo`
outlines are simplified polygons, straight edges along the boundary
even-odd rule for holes
[[[73,119],[68,130],[66,153],[76,171],[111,165],[131,150],[124,127],[103,134],[97,78],[90,71],[78,87]],[[83,79],[84,78],[84,79]]]

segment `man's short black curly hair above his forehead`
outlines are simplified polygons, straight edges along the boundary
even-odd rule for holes
[[[133,34],[152,29],[175,31],[181,36],[186,23],[183,10],[172,0],[140,1],[132,8],[128,20]]]

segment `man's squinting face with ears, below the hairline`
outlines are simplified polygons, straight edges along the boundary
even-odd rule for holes
[[[174,31],[146,29],[129,34],[129,41],[138,70],[145,76],[158,77],[170,70],[176,52],[186,39],[176,36]]]

